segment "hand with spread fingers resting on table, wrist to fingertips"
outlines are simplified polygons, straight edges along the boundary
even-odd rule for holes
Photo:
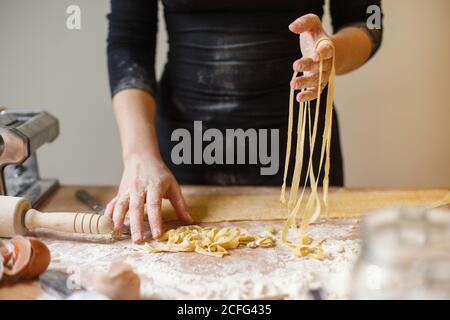
[[[105,210],[105,215],[114,221],[114,234],[121,234],[129,212],[132,240],[142,243],[146,208],[152,237],[159,238],[163,232],[162,199],[171,202],[182,222],[192,223],[180,186],[162,159],[142,154],[129,157],[118,193]]]

